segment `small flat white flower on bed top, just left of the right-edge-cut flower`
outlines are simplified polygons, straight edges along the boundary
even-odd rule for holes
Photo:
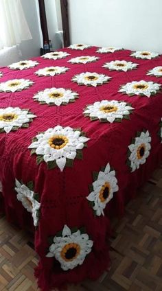
[[[126,60],[112,60],[111,62],[106,62],[102,67],[112,70],[112,71],[128,71],[136,69],[138,64],[133,62],[126,62]]]

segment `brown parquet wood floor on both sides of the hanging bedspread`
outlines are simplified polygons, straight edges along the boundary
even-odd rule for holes
[[[113,221],[111,269],[68,291],[162,291],[162,167]],[[0,291],[38,290],[31,237],[0,218]]]

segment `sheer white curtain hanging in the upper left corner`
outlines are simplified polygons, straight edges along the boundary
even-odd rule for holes
[[[0,0],[0,48],[32,39],[21,0]]]

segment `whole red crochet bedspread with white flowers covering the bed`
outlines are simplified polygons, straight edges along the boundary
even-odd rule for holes
[[[0,209],[36,226],[44,291],[102,274],[111,216],[162,160],[162,56],[97,50],[0,69]]]

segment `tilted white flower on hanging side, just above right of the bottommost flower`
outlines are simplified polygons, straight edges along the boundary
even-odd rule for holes
[[[91,193],[86,197],[91,202],[90,205],[97,216],[104,216],[106,204],[113,198],[114,192],[118,190],[115,171],[111,170],[110,164],[107,163],[104,170],[97,174],[91,187]]]

